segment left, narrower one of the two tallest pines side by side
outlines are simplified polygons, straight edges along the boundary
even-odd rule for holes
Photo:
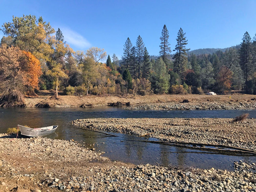
[[[159,45],[160,47],[159,54],[165,63],[168,55],[170,54],[170,52],[172,52],[171,48],[169,47],[170,44],[168,42],[168,39],[169,39],[169,32],[166,28],[166,25],[164,25],[162,30],[162,36],[160,37],[161,44]]]

